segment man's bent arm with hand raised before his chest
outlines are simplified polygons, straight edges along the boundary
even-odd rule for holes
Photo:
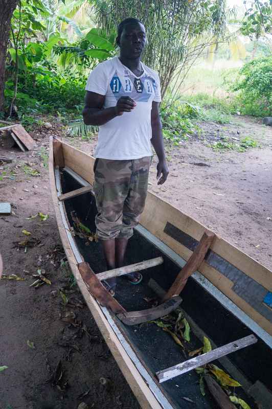
[[[116,106],[103,108],[105,96],[86,91],[85,106],[82,111],[83,120],[86,125],[104,125],[106,122],[123,115],[123,112],[130,112],[135,102],[129,97],[121,97]]]

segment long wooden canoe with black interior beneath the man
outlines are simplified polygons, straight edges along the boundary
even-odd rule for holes
[[[174,339],[155,324],[139,325],[138,321],[148,309],[144,299],[158,294],[164,299],[180,268],[192,267],[207,229],[148,192],[140,225],[129,242],[127,264],[140,268],[144,260],[162,258],[163,264],[152,261],[153,267],[144,270],[143,283],[138,286],[119,278],[115,298],[108,299],[100,290],[99,274],[106,269],[100,243],[86,245],[85,239],[73,233],[75,214],[89,231],[95,231],[93,165],[93,157],[51,139],[50,186],[63,248],[112,355],[144,409],[189,408],[190,400],[199,409],[223,407],[220,397],[214,395],[218,391],[211,377],[206,379],[211,394],[201,394],[199,376],[192,371],[195,362],[184,356]],[[201,346],[203,336],[207,336],[213,357],[211,353],[199,355],[198,366],[218,358],[216,365],[241,383],[244,400],[268,409],[272,396],[272,272],[220,237],[211,242],[205,258],[194,264],[198,269],[181,294],[180,310],[191,327],[190,347]],[[176,291],[173,289],[164,308],[174,305]],[[130,313],[135,310],[137,313]],[[146,316],[153,316],[154,311],[150,314]],[[133,320],[135,325],[131,325]]]

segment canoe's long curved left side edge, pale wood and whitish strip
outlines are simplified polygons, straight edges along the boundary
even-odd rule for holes
[[[56,178],[55,171],[57,175]],[[74,239],[69,232],[69,227],[65,228],[64,226],[65,215],[64,212],[61,212],[60,210],[61,208],[63,210],[63,202],[58,200],[58,195],[61,194],[61,191],[58,189],[59,186],[56,186],[58,185],[57,179],[59,176],[59,169],[54,169],[53,138],[50,138],[49,179],[53,206],[64,252],[67,260],[69,261],[77,284],[81,290],[82,296],[90,312],[94,316],[103,338],[117,361],[119,368],[130,385],[133,394],[138,399],[139,404],[144,409],[162,409],[162,407],[165,409],[173,409],[173,406],[169,403],[154,379],[144,368],[129,343],[123,337],[120,329],[112,320],[110,312],[105,307],[100,306],[87,290],[87,287],[78,270],[78,263],[83,261],[82,257],[79,252],[77,257],[74,254],[76,245],[75,248],[72,249],[70,240],[74,242]],[[70,239],[68,237],[69,233],[71,235]]]

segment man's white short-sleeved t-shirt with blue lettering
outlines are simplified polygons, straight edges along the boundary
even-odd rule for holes
[[[126,96],[137,104],[99,127],[95,157],[121,161],[152,155],[151,108],[153,101],[162,101],[161,86],[158,74],[141,64],[143,74],[137,77],[114,57],[98,64],[88,77],[85,89],[105,95],[103,108],[116,106]]]

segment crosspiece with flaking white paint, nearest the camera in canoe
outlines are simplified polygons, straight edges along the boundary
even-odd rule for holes
[[[176,376],[185,374],[192,369],[201,367],[202,365],[212,362],[222,356],[228,355],[232,352],[238,351],[239,349],[255,344],[257,340],[258,339],[256,338],[256,336],[253,334],[245,336],[244,338],[238,339],[237,341],[231,342],[230,344],[223,345],[222,347],[216,348],[210,352],[195,356],[194,358],[188,359],[185,362],[178,363],[171,368],[156,372],[156,376],[160,383],[165,382],[168,379],[172,379]]]

